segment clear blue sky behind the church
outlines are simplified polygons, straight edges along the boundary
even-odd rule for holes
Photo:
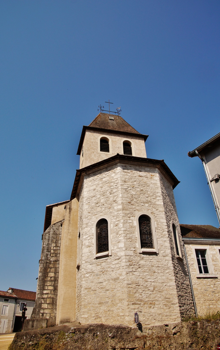
[[[180,223],[218,226],[187,152],[220,132],[219,18],[219,0],[0,1],[1,290],[36,290],[45,206],[108,99],[181,181]]]

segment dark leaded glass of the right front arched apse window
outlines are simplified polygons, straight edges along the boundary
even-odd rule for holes
[[[150,218],[147,215],[141,215],[138,219],[141,248],[154,249],[154,240],[152,235],[152,226]]]

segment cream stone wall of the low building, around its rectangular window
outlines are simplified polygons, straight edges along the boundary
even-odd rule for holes
[[[206,275],[204,278],[197,278],[197,261],[194,258],[193,250],[195,247],[198,248],[198,246],[208,248],[210,259],[206,260],[209,271],[213,269],[213,275],[215,277],[208,278]],[[220,246],[185,243],[185,247],[198,315],[220,311]]]

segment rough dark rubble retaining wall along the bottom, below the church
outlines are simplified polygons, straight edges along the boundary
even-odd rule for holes
[[[189,321],[157,327],[63,325],[15,334],[9,350],[216,350],[220,321]]]

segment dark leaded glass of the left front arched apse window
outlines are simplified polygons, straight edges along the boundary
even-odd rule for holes
[[[96,224],[96,247],[97,253],[108,251],[108,222],[101,219]]]

